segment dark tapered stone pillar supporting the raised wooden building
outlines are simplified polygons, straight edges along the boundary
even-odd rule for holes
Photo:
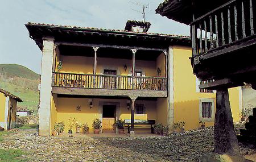
[[[239,152],[229,103],[228,89],[217,90],[214,122],[214,151],[235,155]]]

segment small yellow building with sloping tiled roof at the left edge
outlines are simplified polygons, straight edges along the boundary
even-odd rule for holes
[[[0,89],[0,126],[5,130],[15,128],[17,101],[22,102],[19,97]]]

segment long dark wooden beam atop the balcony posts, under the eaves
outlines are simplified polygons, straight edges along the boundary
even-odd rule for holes
[[[91,44],[91,43],[69,43],[64,41],[56,41],[56,45],[74,45],[80,47],[103,47],[103,48],[119,48],[119,49],[137,49],[137,50],[145,50],[145,51],[167,51],[167,48],[149,48],[149,47],[134,47],[127,45],[108,45],[108,44]]]

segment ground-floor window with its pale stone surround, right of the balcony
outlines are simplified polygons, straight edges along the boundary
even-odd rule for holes
[[[200,121],[214,121],[214,98],[200,98],[199,100],[199,119]]]

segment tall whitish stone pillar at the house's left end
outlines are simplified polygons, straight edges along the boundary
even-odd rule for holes
[[[41,90],[39,108],[39,135],[49,136],[51,132],[51,91],[54,38],[43,38],[41,67]]]

